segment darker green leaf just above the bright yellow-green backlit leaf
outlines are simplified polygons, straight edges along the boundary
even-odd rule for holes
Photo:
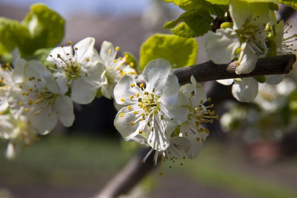
[[[212,17],[208,10],[190,10],[181,14],[175,21],[165,23],[163,28],[171,28],[175,35],[193,38],[207,33],[210,30],[211,21]]]

